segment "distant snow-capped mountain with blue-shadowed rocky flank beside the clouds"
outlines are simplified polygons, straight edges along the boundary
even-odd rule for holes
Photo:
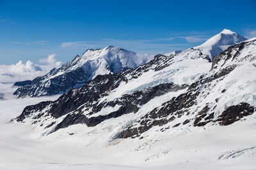
[[[137,55],[129,50],[115,46],[102,49],[89,49],[77,55],[59,69],[52,69],[45,76],[32,81],[21,81],[22,85],[14,92],[18,97],[38,97],[61,94],[77,89],[99,74],[118,73],[123,69],[137,67],[150,60],[149,55]]]

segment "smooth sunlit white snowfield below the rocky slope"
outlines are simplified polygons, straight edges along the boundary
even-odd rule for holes
[[[154,132],[150,139],[104,141],[81,134],[84,125],[40,138],[31,125],[8,124],[24,106],[53,97],[0,101],[0,169],[255,169],[256,117],[227,127]],[[129,115],[126,115],[129,117]],[[117,121],[118,122],[118,121]],[[109,122],[111,123],[111,122]],[[112,124],[115,129],[115,124]],[[104,131],[104,129],[99,129]],[[111,129],[106,129],[105,132]],[[95,130],[91,131],[96,135]]]

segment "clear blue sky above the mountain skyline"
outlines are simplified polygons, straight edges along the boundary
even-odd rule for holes
[[[63,62],[87,48],[166,53],[224,28],[256,36],[256,1],[1,1],[0,64]]]

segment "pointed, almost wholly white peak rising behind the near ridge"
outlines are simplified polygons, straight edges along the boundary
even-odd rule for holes
[[[211,60],[214,59],[216,55],[224,50],[227,50],[228,46],[235,45],[247,38],[240,36],[236,32],[230,31],[228,29],[223,29],[219,34],[216,34],[212,38],[208,39],[202,45],[195,46],[194,48],[200,49],[202,53],[209,55]]]

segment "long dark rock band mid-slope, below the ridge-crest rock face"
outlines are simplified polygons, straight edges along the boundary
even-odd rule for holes
[[[120,105],[120,108],[117,111],[108,113],[108,115],[87,118],[85,115],[83,115],[83,113],[81,113],[81,110],[77,110],[79,112],[78,114],[68,114],[67,117],[65,117],[64,120],[57,125],[54,131],[73,124],[86,124],[88,127],[92,127],[100,124],[104,120],[108,120],[109,118],[120,117],[127,113],[137,113],[139,110],[138,105],[142,106],[143,104],[146,104],[153,97],[161,96],[167,92],[185,89],[186,87],[188,87],[188,85],[179,86],[174,85],[173,83],[164,83],[155,87],[150,87],[145,90],[145,92],[136,91],[132,94],[125,94],[115,101],[101,103],[95,107],[92,106],[93,110],[88,113],[88,115],[97,113],[98,111],[102,110],[103,107],[114,107],[116,104],[118,104]]]

